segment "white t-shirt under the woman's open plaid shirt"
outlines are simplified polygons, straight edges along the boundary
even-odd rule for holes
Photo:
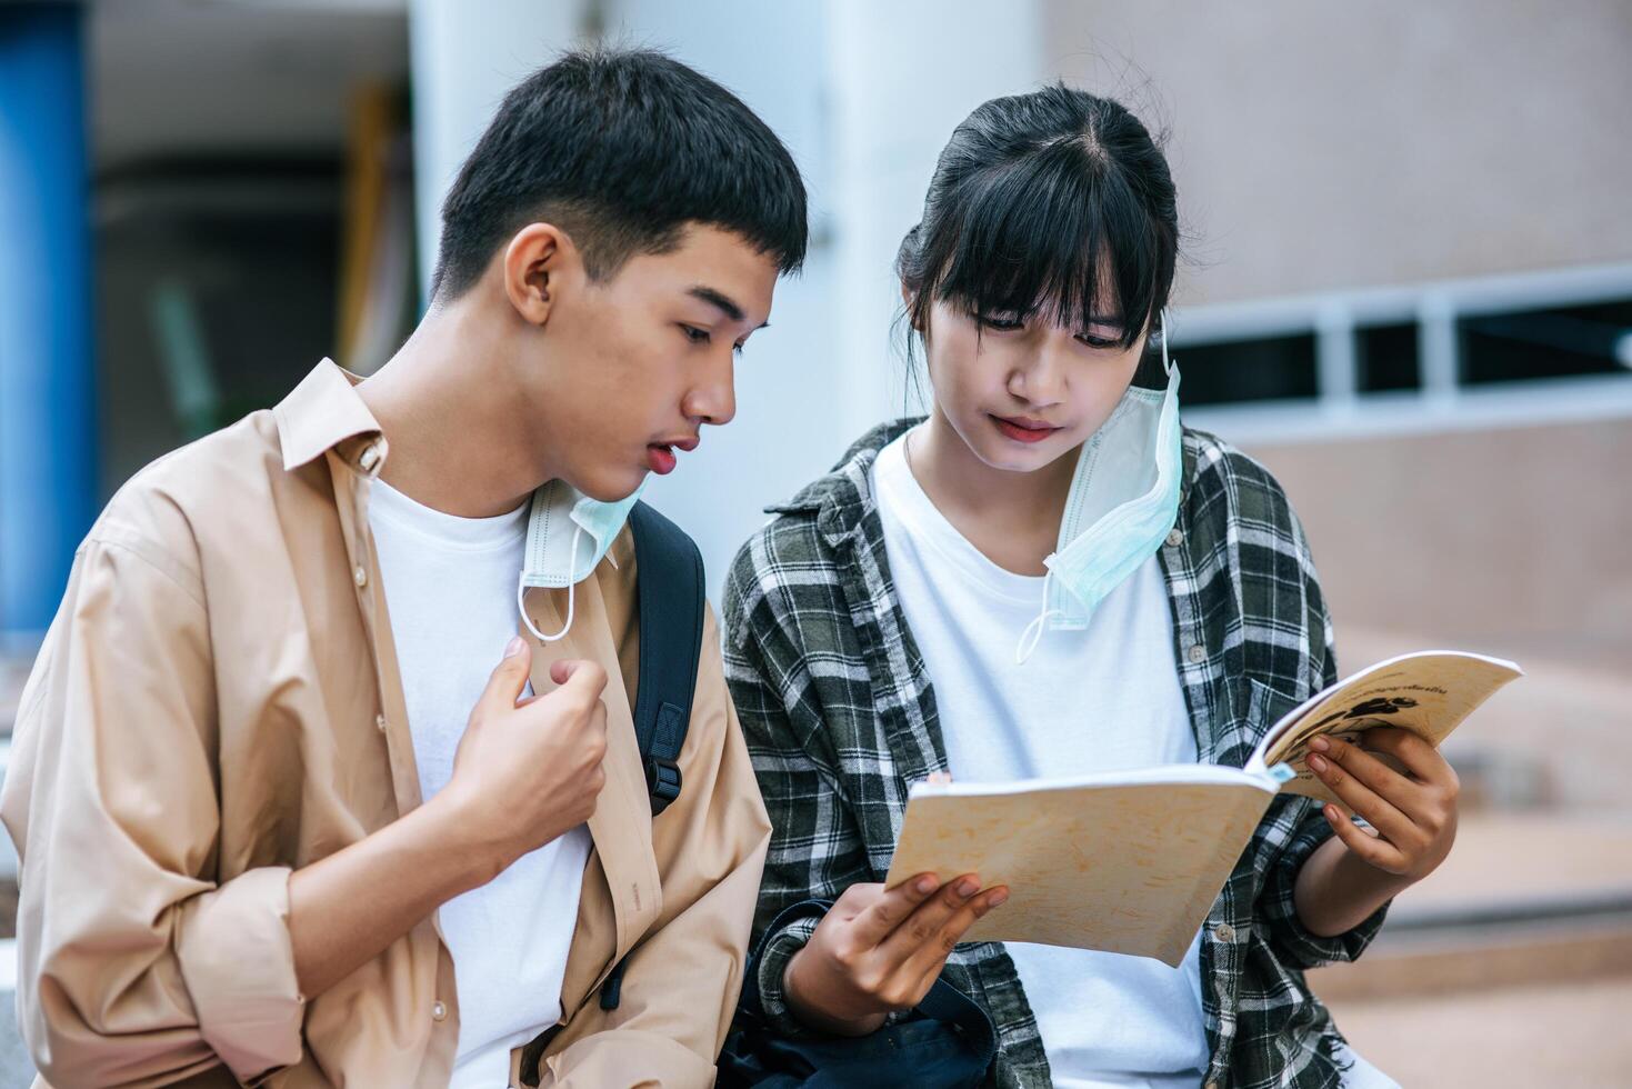
[[[1020,666],[1015,645],[1043,607],[1043,578],[1005,571],[969,544],[912,477],[901,439],[880,452],[873,487],[953,779],[1195,762],[1155,557],[1100,602],[1087,630],[1044,632]],[[1200,934],[1178,968],[1028,942],[1005,947],[1056,1086],[1200,1084],[1208,1063]]]

